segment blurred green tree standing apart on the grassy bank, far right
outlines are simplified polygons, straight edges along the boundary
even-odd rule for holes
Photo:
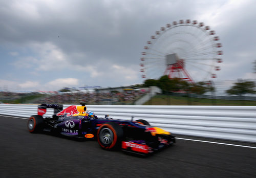
[[[254,90],[255,83],[253,81],[237,82],[229,89],[226,90],[228,95],[238,95],[243,96],[245,94],[255,94]]]

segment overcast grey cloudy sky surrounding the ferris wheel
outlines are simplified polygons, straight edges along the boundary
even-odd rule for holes
[[[0,90],[142,83],[146,41],[180,19],[202,21],[220,37],[215,80],[255,79],[255,7],[254,0],[0,0]]]

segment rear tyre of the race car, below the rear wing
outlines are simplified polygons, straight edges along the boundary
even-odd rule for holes
[[[41,132],[44,125],[44,118],[39,115],[33,115],[28,120],[28,130],[30,133]]]

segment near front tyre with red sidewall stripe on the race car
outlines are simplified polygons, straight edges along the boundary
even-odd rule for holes
[[[101,148],[114,150],[120,148],[123,129],[115,122],[102,124],[97,131],[97,140]]]

